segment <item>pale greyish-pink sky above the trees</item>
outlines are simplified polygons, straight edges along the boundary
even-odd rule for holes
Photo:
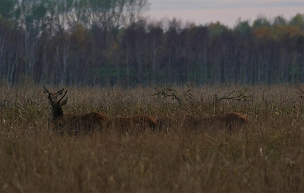
[[[290,19],[304,14],[304,0],[149,0],[145,16],[152,20],[177,18],[185,22],[206,24],[220,21],[233,27],[236,20],[249,20],[258,16],[273,19],[282,15]]]

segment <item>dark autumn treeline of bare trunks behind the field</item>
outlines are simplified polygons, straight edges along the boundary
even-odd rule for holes
[[[231,29],[141,18],[147,0],[0,0],[0,84],[304,82],[304,15]]]

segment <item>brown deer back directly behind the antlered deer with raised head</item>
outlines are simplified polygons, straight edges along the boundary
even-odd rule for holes
[[[155,130],[156,121],[147,115],[112,119],[112,128],[116,128],[120,131],[127,131],[134,125],[139,126],[140,129],[150,127],[152,130]]]

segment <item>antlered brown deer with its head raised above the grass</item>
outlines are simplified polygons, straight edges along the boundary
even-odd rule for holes
[[[62,111],[62,106],[67,104],[68,97],[61,101],[65,95],[58,101],[53,101],[48,96],[51,103],[51,128],[53,131],[59,131],[63,134],[67,132],[68,134],[78,135],[80,132],[87,133],[94,131],[95,129],[102,129],[108,124],[108,118],[98,112],[84,113],[84,114],[64,114]]]

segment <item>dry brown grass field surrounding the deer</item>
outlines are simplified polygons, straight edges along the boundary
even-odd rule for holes
[[[191,95],[172,87],[180,100],[160,99],[153,88],[45,86],[68,89],[65,113],[156,119],[239,112],[250,121],[231,133],[175,125],[58,135],[47,125],[42,85],[1,87],[0,192],[304,192],[304,99],[296,86],[249,86],[245,101],[215,100],[244,90],[230,85],[191,87]]]

